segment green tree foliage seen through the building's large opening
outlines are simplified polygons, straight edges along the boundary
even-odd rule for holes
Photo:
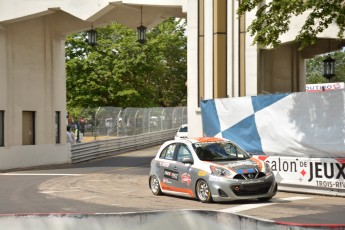
[[[186,105],[186,22],[169,18],[137,42],[120,24],[97,28],[97,45],[86,33],[66,39],[67,108],[174,107]]]

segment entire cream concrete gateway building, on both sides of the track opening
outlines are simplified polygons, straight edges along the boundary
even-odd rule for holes
[[[0,170],[69,163],[66,144],[65,36],[118,22],[152,28],[170,16],[188,20],[188,120],[202,135],[201,99],[305,89],[305,59],[325,53],[331,27],[299,52],[292,22],[274,50],[252,46],[238,18],[238,1],[226,0],[0,0]],[[305,16],[301,16],[305,17]],[[327,39],[323,39],[327,38]]]

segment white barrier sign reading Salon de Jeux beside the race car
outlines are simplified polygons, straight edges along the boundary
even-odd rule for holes
[[[255,157],[271,165],[280,191],[345,196],[345,158]]]

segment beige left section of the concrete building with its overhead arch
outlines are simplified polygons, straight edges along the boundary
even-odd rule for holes
[[[0,0],[0,170],[70,162],[65,36],[111,22],[151,28],[182,1]]]

